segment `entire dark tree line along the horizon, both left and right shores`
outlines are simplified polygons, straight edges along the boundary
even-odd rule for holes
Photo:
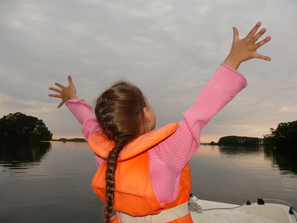
[[[4,115],[0,119],[0,140],[15,141],[49,141],[53,134],[45,126],[44,122],[37,117],[16,112]],[[62,138],[63,140],[67,140]],[[60,139],[60,140],[62,140]],[[85,141],[81,138],[68,139]],[[262,138],[247,136],[223,136],[218,143],[211,142],[209,145],[236,145],[297,148],[297,120],[287,123],[279,123],[277,128],[270,128],[270,134]]]

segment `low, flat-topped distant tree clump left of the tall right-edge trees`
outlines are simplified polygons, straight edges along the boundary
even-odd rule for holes
[[[256,137],[224,136],[219,139],[218,145],[257,146],[261,143],[262,139]]]

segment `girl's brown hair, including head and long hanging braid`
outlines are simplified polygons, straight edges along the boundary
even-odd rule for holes
[[[110,222],[113,203],[116,161],[123,147],[138,136],[147,132],[143,108],[147,107],[141,90],[127,81],[118,81],[103,92],[97,99],[95,114],[108,139],[116,146],[110,151],[106,169],[105,222]]]

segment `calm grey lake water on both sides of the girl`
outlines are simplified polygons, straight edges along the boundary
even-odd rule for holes
[[[192,193],[242,204],[257,198],[297,206],[297,153],[201,146],[190,160]],[[91,189],[87,143],[0,142],[0,222],[103,222]]]

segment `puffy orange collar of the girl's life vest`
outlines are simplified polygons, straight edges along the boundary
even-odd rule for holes
[[[161,128],[139,136],[123,148],[119,154],[119,160],[126,160],[149,149],[173,134],[177,128],[178,123],[169,123]],[[103,158],[107,158],[110,150],[115,147],[115,142],[109,140],[102,131],[92,133],[89,136],[88,142],[91,149]]]

